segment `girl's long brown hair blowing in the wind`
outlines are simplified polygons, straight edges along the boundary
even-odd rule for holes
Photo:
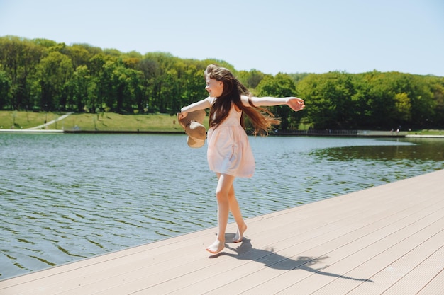
[[[209,125],[217,128],[223,120],[228,116],[231,110],[231,103],[234,103],[243,114],[247,115],[253,127],[255,128],[253,134],[265,135],[271,129],[272,125],[279,124],[280,121],[274,118],[274,115],[265,108],[258,108],[252,104],[248,99],[250,107],[245,107],[240,100],[241,95],[251,97],[250,91],[233,76],[231,71],[226,68],[210,64],[206,67],[205,76],[216,81],[223,82],[223,92],[220,97],[211,106]],[[244,116],[240,117],[240,125],[245,129]]]

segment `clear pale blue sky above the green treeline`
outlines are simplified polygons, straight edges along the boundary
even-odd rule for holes
[[[266,74],[444,76],[443,0],[0,0],[0,36],[222,59]]]

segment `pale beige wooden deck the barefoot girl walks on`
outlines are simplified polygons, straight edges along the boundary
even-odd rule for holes
[[[0,281],[0,294],[444,294],[444,170]],[[235,227],[228,226],[227,240]]]

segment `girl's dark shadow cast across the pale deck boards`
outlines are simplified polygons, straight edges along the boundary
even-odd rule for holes
[[[231,241],[229,237],[226,241]],[[248,238],[243,238],[242,244],[237,248],[232,248],[231,245],[226,244],[226,248],[233,250],[236,254],[221,252],[218,255],[213,255],[211,258],[215,258],[219,255],[228,255],[240,260],[252,260],[263,263],[267,267],[272,267],[277,270],[306,270],[307,272],[313,272],[315,274],[321,274],[328,277],[338,277],[341,279],[352,279],[353,281],[360,282],[374,282],[371,279],[357,279],[354,277],[347,277],[341,274],[333,274],[331,272],[323,272],[322,269],[312,268],[311,265],[316,265],[321,260],[328,258],[328,256],[322,257],[306,257],[299,256],[296,260],[287,258],[274,252],[274,249],[262,250],[252,248],[251,241]]]

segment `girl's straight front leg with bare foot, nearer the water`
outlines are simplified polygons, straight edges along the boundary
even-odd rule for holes
[[[210,253],[216,254],[221,252],[225,247],[225,231],[228,223],[228,212],[230,204],[228,202],[228,194],[233,186],[234,176],[226,174],[218,174],[218,183],[216,188],[216,199],[218,207],[218,233],[214,243],[206,248]]]

